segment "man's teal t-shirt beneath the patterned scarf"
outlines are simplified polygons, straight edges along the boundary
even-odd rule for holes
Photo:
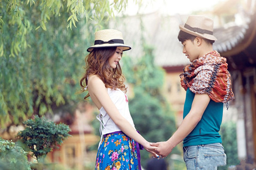
[[[194,97],[195,93],[187,88],[183,118],[189,113]],[[183,147],[199,144],[222,143],[221,135],[219,134],[222,115],[223,103],[217,103],[210,100],[200,122],[183,140]]]

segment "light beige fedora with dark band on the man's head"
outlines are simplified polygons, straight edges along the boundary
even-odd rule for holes
[[[179,26],[181,31],[209,40],[217,40],[214,36],[214,21],[200,15],[190,15],[184,26]]]

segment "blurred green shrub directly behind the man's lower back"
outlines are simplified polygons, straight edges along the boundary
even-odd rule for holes
[[[218,169],[228,169],[231,165],[238,165],[238,145],[237,145],[237,127],[234,122],[225,122],[221,125],[222,145],[227,155],[227,165],[218,167]]]

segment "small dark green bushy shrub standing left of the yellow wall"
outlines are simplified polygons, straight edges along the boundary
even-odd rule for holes
[[[63,140],[71,136],[69,126],[62,123],[56,125],[37,115],[34,119],[28,119],[24,124],[26,128],[19,131],[17,137],[22,139],[38,161],[40,157],[45,158],[52,149],[58,148]]]

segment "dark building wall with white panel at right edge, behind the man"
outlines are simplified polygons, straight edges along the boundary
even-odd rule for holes
[[[256,167],[256,69],[233,70],[230,72],[232,88],[236,99],[232,106],[237,109],[237,142],[240,169]],[[231,112],[231,114],[236,114]]]

